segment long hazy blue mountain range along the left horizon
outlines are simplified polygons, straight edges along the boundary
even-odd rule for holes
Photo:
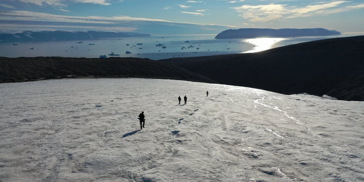
[[[58,40],[92,40],[100,38],[120,38],[120,37],[150,37],[149,34],[136,32],[67,32],[67,31],[24,31],[22,33],[0,34],[0,42],[26,42],[26,41],[58,41]]]

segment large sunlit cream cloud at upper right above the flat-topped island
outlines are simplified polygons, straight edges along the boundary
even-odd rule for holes
[[[304,7],[288,6],[287,4],[266,4],[266,5],[242,5],[234,7],[239,16],[250,21],[267,22],[283,18],[307,17],[314,15],[324,15],[345,11],[338,8],[339,5],[349,3],[350,1],[330,1],[317,2]],[[360,5],[352,8],[361,8]],[[336,9],[335,9],[336,8]],[[347,7],[348,8],[348,7]]]

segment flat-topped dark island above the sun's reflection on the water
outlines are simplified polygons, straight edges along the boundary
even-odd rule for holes
[[[257,37],[304,37],[304,36],[328,36],[340,35],[340,32],[324,28],[241,28],[229,29],[219,33],[215,39],[244,39]]]

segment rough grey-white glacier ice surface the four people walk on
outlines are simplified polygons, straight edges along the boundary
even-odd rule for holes
[[[0,96],[0,181],[364,180],[363,102],[159,79],[4,83]]]

